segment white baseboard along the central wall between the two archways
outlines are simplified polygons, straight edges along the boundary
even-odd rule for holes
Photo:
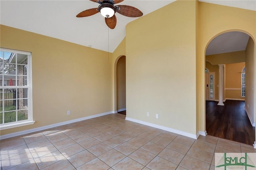
[[[181,130],[176,130],[176,129],[173,129],[173,128],[168,128],[168,127],[156,125],[156,124],[153,124],[153,123],[140,121],[140,120],[132,119],[132,118],[129,118],[129,117],[126,117],[125,120],[140,123],[142,125],[147,125],[147,126],[154,127],[154,128],[159,128],[159,129],[162,129],[162,130],[166,130],[168,132],[173,132],[173,133],[177,133],[177,134],[180,134],[180,135],[183,135],[183,136],[187,136],[187,137],[190,137],[190,138],[197,139],[196,134],[191,134],[191,133],[184,132],[184,131],[181,131]]]

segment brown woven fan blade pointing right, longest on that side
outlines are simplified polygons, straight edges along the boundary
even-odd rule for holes
[[[128,17],[139,17],[142,16],[143,13],[138,10],[137,8],[133,7],[133,6],[128,6],[128,5],[118,5],[119,10],[117,10],[116,12],[118,12],[121,15],[124,16],[128,16]]]

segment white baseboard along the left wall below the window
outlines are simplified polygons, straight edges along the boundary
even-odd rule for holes
[[[4,134],[4,135],[0,136],[0,139],[11,138],[11,137],[19,136],[19,135],[22,135],[22,134],[28,134],[28,133],[37,132],[37,131],[40,131],[40,130],[45,130],[45,129],[48,129],[48,128],[53,128],[53,127],[58,127],[58,126],[74,123],[74,122],[84,121],[86,119],[92,119],[92,118],[95,118],[95,117],[100,117],[100,116],[108,115],[108,114],[111,114],[111,113],[114,113],[114,111],[109,111],[109,112],[106,112],[106,113],[100,113],[100,114],[97,114],[97,115],[92,115],[92,116],[82,117],[82,118],[78,118],[78,119],[73,119],[73,120],[70,120],[70,121],[55,123],[55,124],[52,124],[52,125],[46,125],[46,126],[43,126],[43,127],[23,130],[23,131],[20,131],[20,132]]]

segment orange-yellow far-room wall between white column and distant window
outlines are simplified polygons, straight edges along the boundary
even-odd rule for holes
[[[245,63],[225,65],[225,94],[226,99],[245,100],[241,97],[241,72]]]

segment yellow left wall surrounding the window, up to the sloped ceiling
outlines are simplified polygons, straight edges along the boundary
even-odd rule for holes
[[[1,135],[112,111],[107,52],[2,25],[0,31],[1,47],[32,52],[36,121]]]

